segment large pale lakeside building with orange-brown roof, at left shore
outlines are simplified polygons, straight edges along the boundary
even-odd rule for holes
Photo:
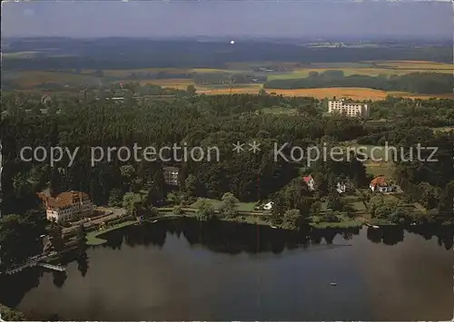
[[[79,191],[62,192],[56,197],[38,193],[43,200],[47,220],[67,222],[92,214],[94,204],[88,194]]]

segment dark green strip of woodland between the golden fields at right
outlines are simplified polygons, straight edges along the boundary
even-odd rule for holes
[[[366,87],[382,91],[440,94],[452,93],[454,80],[448,73],[408,73],[397,76],[344,76],[342,71],[311,72],[306,78],[272,80],[265,88]]]

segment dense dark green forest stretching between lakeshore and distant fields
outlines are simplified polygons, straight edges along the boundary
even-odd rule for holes
[[[129,86],[140,87],[139,84]],[[94,96],[87,95],[82,101],[60,99],[47,105],[39,100],[34,102],[24,94],[6,95],[3,105],[6,115],[2,119],[4,211],[29,210],[37,202],[35,192],[44,189],[49,182],[55,191],[87,191],[96,204],[121,201],[124,193],[150,189],[150,186],[165,195],[169,189],[163,185],[163,165],[179,164],[176,160],[128,162],[114,155],[113,160],[100,161],[92,167],[90,147],[133,149],[134,143],[159,148],[175,143],[183,146],[185,142],[189,147],[219,148],[220,161],[179,164],[178,190],[184,192],[184,198],[220,199],[226,192],[232,192],[242,201],[276,198],[276,194],[289,185],[301,188],[298,188],[299,183],[294,185],[301,171],[316,173],[317,181],[332,183],[343,178],[357,187],[367,187],[370,178],[355,159],[321,162],[309,169],[304,161],[274,161],[271,153],[275,143],[289,142],[283,152],[290,153],[292,146],[307,148],[350,140],[377,145],[387,141],[390,145],[407,148],[417,143],[439,147],[436,163],[418,165],[396,161],[396,179],[408,187],[428,183],[425,187],[435,193],[430,209],[439,207],[451,193],[447,187],[454,179],[452,132],[433,132],[430,127],[454,125],[452,101],[390,98],[372,104],[372,119],[380,122],[362,122],[323,116],[326,102],[312,98],[267,94],[205,96],[194,95],[193,88],[188,91],[186,96],[173,100],[145,101],[141,99],[141,88],[133,88],[136,94],[121,103],[112,102],[108,97],[95,100]],[[43,107],[47,113],[41,112]],[[296,110],[297,114],[267,112],[273,108]],[[258,141],[262,149],[252,155],[237,154],[232,151],[232,143],[237,141]],[[45,162],[21,161],[19,151],[24,146],[63,146],[72,151],[80,147],[80,150],[71,167],[67,166],[66,157],[51,168]],[[420,193],[413,190],[412,198],[422,198],[422,189],[418,190]],[[300,193],[311,197],[307,191]],[[329,193],[327,188],[318,191],[320,196]]]

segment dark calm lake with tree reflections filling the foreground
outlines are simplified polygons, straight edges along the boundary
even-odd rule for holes
[[[449,320],[453,234],[162,221],[105,234],[65,273],[16,274],[0,302],[35,319]]]

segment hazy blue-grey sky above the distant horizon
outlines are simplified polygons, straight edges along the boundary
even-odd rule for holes
[[[2,36],[452,37],[448,1],[2,2]]]

